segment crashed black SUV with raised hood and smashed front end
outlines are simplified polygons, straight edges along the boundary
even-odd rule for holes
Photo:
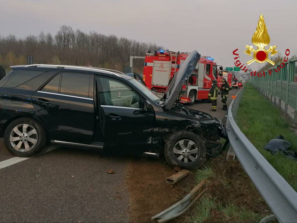
[[[225,126],[208,113],[177,104],[200,59],[193,51],[165,98],[115,70],[66,65],[12,66],[0,81],[0,137],[21,157],[49,143],[165,155],[168,163],[199,167]],[[211,146],[208,146],[211,145]]]

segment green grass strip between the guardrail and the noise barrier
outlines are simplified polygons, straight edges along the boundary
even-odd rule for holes
[[[278,135],[291,143],[290,150],[297,151],[297,136],[290,123],[266,97],[247,83],[237,113],[238,127],[259,150],[271,166],[297,191],[297,162],[282,154],[273,155],[265,145]]]

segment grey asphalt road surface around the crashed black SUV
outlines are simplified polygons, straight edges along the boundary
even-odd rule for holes
[[[228,105],[237,92],[230,92]],[[189,107],[221,120],[226,115],[220,98],[217,112],[210,112],[206,102]],[[0,222],[129,221],[127,157],[100,157],[94,151],[59,147],[3,167],[3,162],[15,159],[19,158],[0,139]],[[108,169],[115,173],[108,174]]]

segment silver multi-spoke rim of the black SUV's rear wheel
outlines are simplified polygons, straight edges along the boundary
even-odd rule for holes
[[[20,124],[12,129],[9,140],[15,150],[27,152],[37,144],[38,134],[33,126]]]

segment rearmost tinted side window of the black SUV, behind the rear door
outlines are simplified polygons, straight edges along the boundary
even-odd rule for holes
[[[44,73],[44,71],[12,70],[0,81],[0,87],[17,87],[42,73]]]

